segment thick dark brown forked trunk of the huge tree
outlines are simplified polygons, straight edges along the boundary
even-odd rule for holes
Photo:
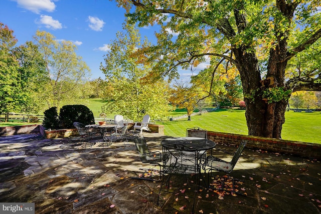
[[[240,72],[244,101],[246,103],[245,117],[247,121],[248,134],[254,136],[281,138],[282,125],[285,121],[284,113],[287,100],[268,103],[262,99],[259,92],[264,89],[261,84],[261,76],[258,68],[258,61],[255,53],[246,53],[246,48],[235,48],[233,53],[237,61],[237,67]],[[286,60],[281,60],[284,55],[280,52],[271,50],[273,57],[268,66],[267,76],[273,75],[277,86],[284,86],[284,70]],[[282,63],[278,63],[282,62]],[[247,97],[257,91],[254,96]]]

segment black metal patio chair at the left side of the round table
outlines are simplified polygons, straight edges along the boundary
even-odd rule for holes
[[[142,163],[149,163],[152,164],[154,167],[158,166],[159,170],[154,169],[140,169],[144,170],[144,172],[139,177],[131,177],[133,179],[144,179],[144,180],[152,180],[152,181],[159,181],[161,180],[161,170],[162,170],[162,164],[159,162],[162,161],[162,153],[159,151],[151,152],[149,150],[149,147],[147,146],[146,140],[143,135],[136,135],[134,138],[134,143],[140,158],[140,161]],[[150,147],[154,148],[156,146]],[[154,173],[156,171],[156,173]],[[156,174],[159,176],[159,179],[155,180],[152,178],[152,175]]]

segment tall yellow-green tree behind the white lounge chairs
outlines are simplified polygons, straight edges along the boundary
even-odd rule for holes
[[[137,121],[144,114],[162,118],[169,110],[168,85],[163,81],[147,81],[151,67],[141,64],[143,56],[136,53],[138,48],[148,45],[147,41],[141,44],[140,35],[132,25],[124,25],[124,30],[125,33],[117,33],[105,55],[105,65],[100,66],[109,86],[104,94],[108,101],[105,113],[118,113]]]

